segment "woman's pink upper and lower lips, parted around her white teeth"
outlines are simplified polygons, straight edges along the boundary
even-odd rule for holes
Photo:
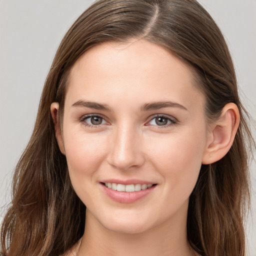
[[[135,202],[137,200],[139,200],[140,198],[146,196],[147,194],[149,194],[150,192],[152,192],[152,190],[155,188],[155,185],[144,189],[144,190],[139,190],[139,191],[134,191],[134,192],[123,192],[123,191],[117,191],[117,190],[113,190],[111,188],[106,187],[103,183],[117,183],[117,184],[152,184],[152,182],[148,182],[148,181],[143,181],[143,180],[138,180],[138,179],[129,179],[129,180],[125,180],[125,181],[121,181],[121,180],[117,180],[117,179],[107,179],[107,180],[103,180],[101,181],[101,187],[103,192],[110,197],[112,200],[116,201],[116,202],[121,202],[121,203],[132,203]]]

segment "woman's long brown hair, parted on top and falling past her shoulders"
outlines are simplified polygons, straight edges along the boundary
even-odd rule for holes
[[[59,255],[84,231],[85,206],[72,189],[58,148],[50,104],[63,110],[68,72],[88,48],[144,38],[191,66],[214,120],[235,103],[240,124],[228,153],[202,165],[190,195],[187,238],[201,255],[245,255],[243,217],[249,202],[248,154],[253,140],[240,103],[233,63],[211,16],[195,0],[98,0],[62,39],[42,91],[33,133],[15,168],[12,201],[1,231],[1,255]]]

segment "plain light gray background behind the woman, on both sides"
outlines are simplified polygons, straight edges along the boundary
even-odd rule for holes
[[[41,89],[57,46],[91,2],[0,0],[0,207],[10,200],[11,173],[32,131]],[[226,37],[243,103],[256,119],[256,0],[199,2]],[[251,173],[248,255],[256,256],[255,163]],[[3,212],[4,207],[0,208],[0,218]]]

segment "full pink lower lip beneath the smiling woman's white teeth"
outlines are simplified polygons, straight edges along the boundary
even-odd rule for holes
[[[112,200],[116,202],[121,203],[131,203],[135,202],[142,197],[146,196],[150,192],[153,191],[153,189],[156,187],[156,185],[153,185],[149,188],[146,188],[144,190],[134,191],[134,192],[123,192],[123,191],[117,191],[113,190],[111,188],[106,187],[104,184],[101,184],[104,193],[109,196]]]

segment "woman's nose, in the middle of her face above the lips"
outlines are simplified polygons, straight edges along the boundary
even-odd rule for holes
[[[139,167],[144,163],[142,141],[135,128],[119,127],[112,133],[107,162],[120,170]]]

